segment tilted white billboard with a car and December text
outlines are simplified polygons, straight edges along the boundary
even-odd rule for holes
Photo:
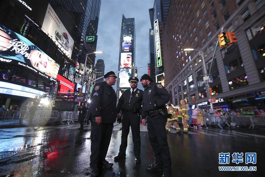
[[[52,36],[55,40],[55,44],[62,47],[61,50],[71,58],[74,40],[69,35],[69,32],[65,29],[61,20],[52,9],[52,6],[48,4],[48,8],[42,24],[42,31]]]

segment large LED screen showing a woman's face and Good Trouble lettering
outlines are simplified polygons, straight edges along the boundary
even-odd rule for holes
[[[20,65],[46,78],[56,78],[60,65],[27,38],[0,24],[0,63]]]

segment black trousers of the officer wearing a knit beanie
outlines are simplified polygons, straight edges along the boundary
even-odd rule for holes
[[[171,173],[171,159],[168,148],[167,133],[165,130],[166,122],[167,119],[162,115],[148,117],[147,129],[149,142],[155,154],[155,163],[163,165],[163,170]]]

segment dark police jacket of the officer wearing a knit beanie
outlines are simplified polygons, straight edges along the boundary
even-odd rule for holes
[[[169,93],[160,83],[151,82],[143,93],[142,118],[148,115],[148,111],[165,108],[169,101]],[[156,106],[155,106],[156,104]]]

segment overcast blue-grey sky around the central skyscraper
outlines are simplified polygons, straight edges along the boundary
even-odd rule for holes
[[[153,5],[154,0],[101,0],[97,51],[104,53],[96,54],[95,63],[98,59],[103,59],[105,73],[118,71],[122,14],[125,18],[135,18],[135,66],[139,68],[138,79],[140,80],[140,77],[147,73],[149,29],[151,28],[148,9],[153,8]],[[143,66],[145,68],[140,68]],[[116,90],[117,86],[113,88]],[[138,88],[143,90],[140,81]]]

